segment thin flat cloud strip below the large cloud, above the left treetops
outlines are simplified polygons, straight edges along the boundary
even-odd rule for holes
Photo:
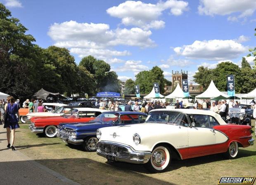
[[[125,56],[130,55],[129,51],[116,51],[116,50],[109,50],[109,49],[81,49],[81,48],[71,48],[71,53],[78,54],[79,57],[85,57],[88,55],[92,55],[99,59],[105,59],[106,57],[111,56]]]

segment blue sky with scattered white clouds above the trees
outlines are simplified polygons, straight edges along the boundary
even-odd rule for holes
[[[220,62],[241,65],[256,44],[256,0],[0,0],[39,46],[106,61],[119,79],[159,66],[166,79]],[[254,65],[253,57],[247,60]]]

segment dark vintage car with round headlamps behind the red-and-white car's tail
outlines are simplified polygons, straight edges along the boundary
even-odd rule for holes
[[[224,120],[226,123],[251,126],[251,115],[239,108],[229,109],[228,115]]]

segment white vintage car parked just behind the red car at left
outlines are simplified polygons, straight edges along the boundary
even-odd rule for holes
[[[30,119],[33,117],[61,116],[73,108],[72,106],[59,103],[43,103],[43,106],[47,106],[52,111],[27,113],[25,122],[30,124]]]

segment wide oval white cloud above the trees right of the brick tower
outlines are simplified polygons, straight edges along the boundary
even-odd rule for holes
[[[234,40],[196,40],[191,45],[184,45],[173,49],[178,55],[188,58],[202,58],[206,60],[225,60],[237,58],[247,48]]]

